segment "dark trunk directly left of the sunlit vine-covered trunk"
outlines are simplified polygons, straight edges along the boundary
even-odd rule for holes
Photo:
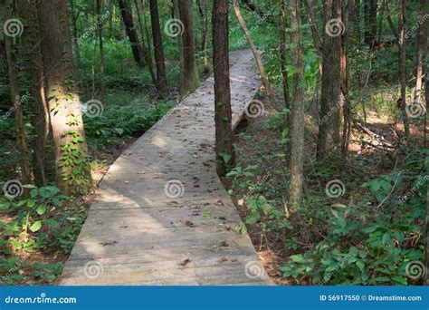
[[[33,167],[34,181],[39,187],[47,184],[46,168],[48,166],[46,156],[46,144],[50,132],[49,111],[46,104],[43,83],[43,59],[41,53],[41,34],[39,29],[37,0],[16,2],[19,17],[23,20],[24,31],[23,57],[25,73],[30,82],[30,94],[34,116],[32,118],[35,131],[33,142]]]

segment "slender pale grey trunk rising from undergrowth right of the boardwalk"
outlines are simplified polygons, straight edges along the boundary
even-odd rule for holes
[[[304,63],[302,63],[302,45],[300,32],[300,2],[289,1],[291,15],[291,46],[293,66],[297,72],[293,73],[293,110],[291,129],[291,187],[289,201],[292,205],[300,203],[302,199],[303,162],[304,162]]]

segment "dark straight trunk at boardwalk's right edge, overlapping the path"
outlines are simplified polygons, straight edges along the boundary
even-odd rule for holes
[[[215,72],[216,170],[219,176],[224,176],[234,166],[229,77],[228,0],[215,0],[212,24],[213,68]]]

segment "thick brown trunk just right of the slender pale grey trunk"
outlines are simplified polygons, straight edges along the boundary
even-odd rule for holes
[[[332,21],[341,17],[340,0],[327,0],[324,3],[324,24],[333,25],[335,32],[323,34],[323,69],[320,99],[320,120],[318,136],[318,160],[339,148],[340,110],[343,108],[340,77],[341,24]],[[326,29],[325,29],[326,30]],[[338,30],[338,31],[337,31]]]

